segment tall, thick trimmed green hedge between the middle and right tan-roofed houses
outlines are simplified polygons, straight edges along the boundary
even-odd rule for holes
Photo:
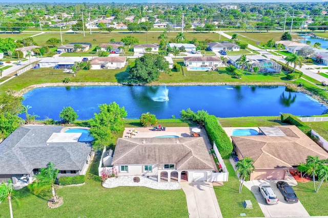
[[[227,133],[219,125],[217,118],[214,115],[207,116],[204,120],[204,126],[211,144],[213,145],[215,142],[222,158],[229,158],[233,146]]]

